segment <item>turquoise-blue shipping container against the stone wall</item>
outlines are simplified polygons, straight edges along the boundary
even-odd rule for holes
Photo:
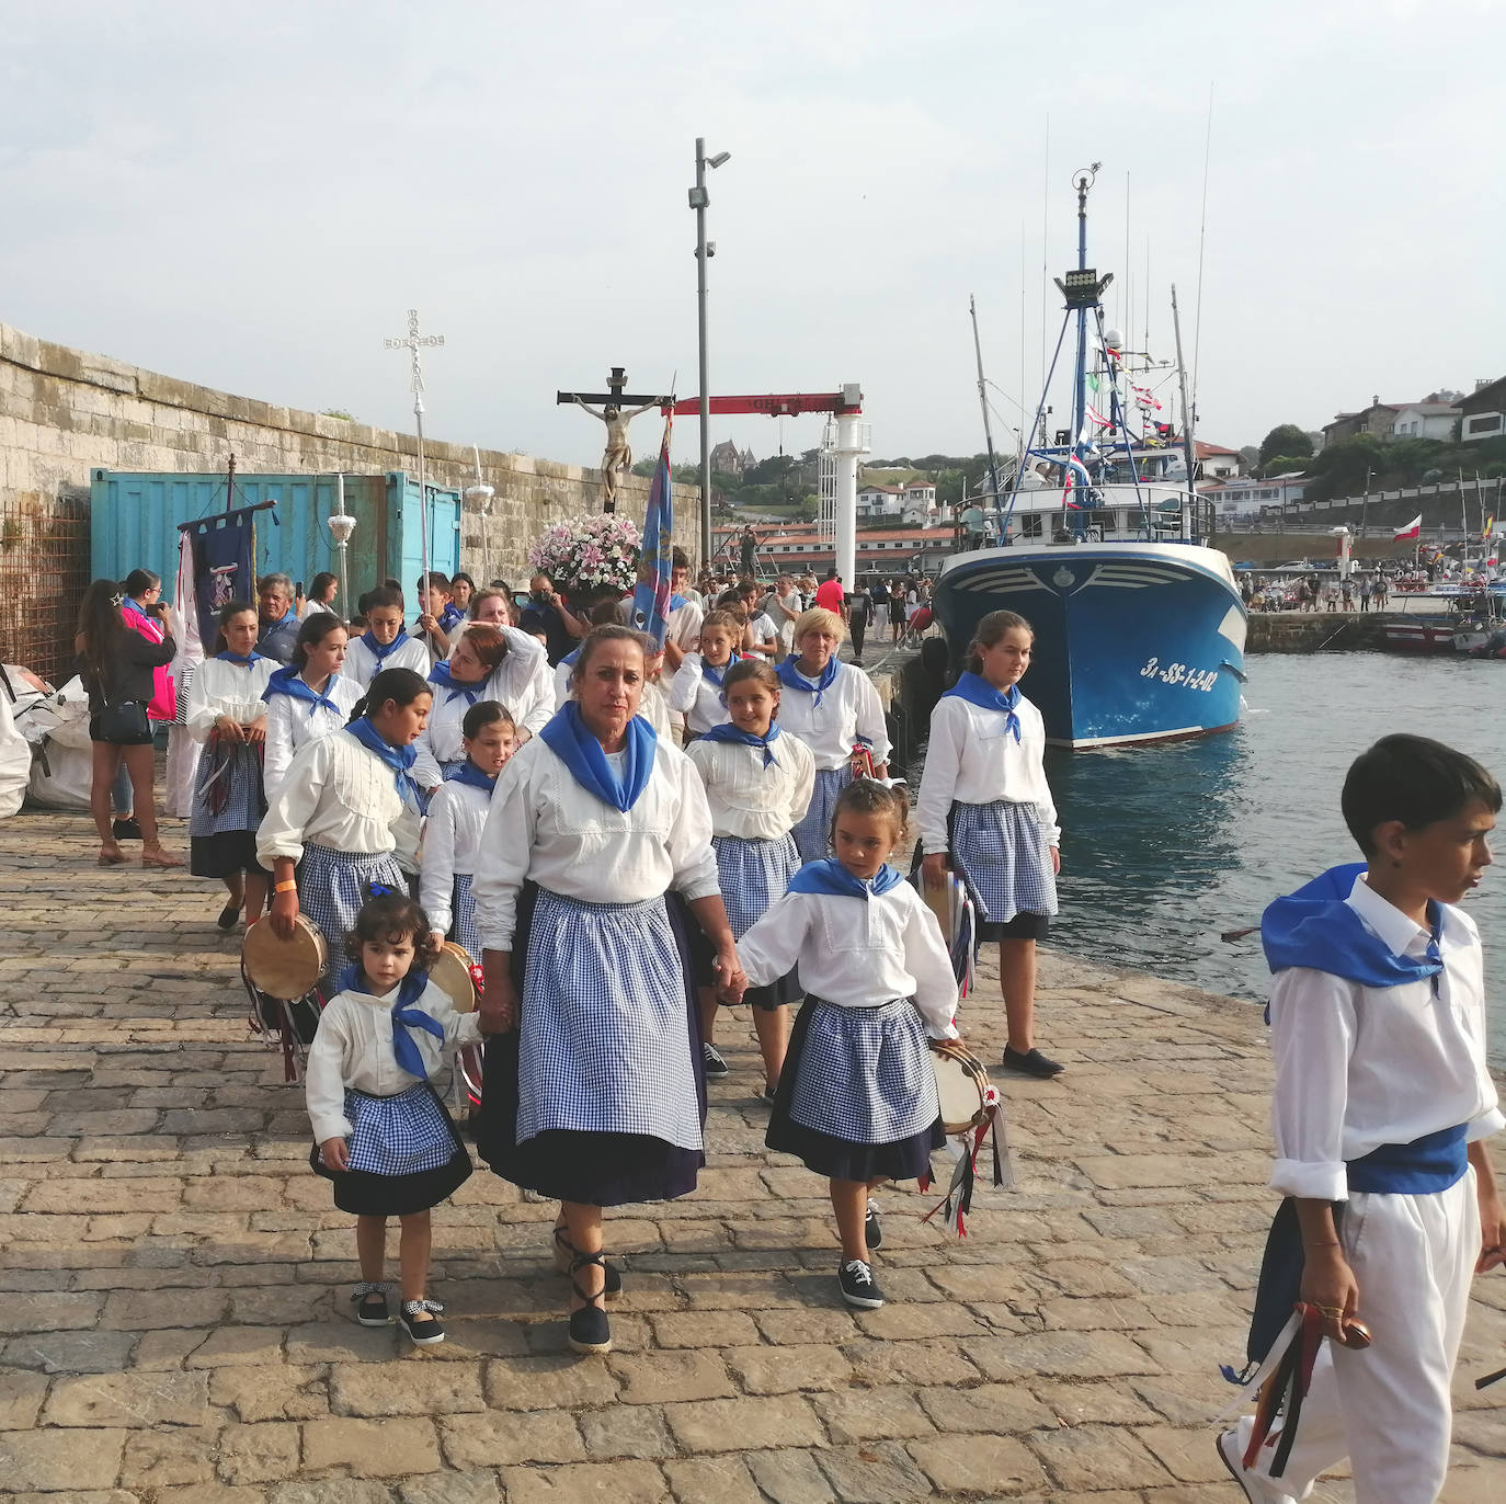
[[[426,486],[429,568],[461,568],[461,497]],[[235,506],[276,501],[256,513],[256,572],[285,574],[304,587],[321,569],[337,572],[325,519],[337,509],[334,476],[235,477]],[[163,577],[170,601],[178,580],[179,522],[226,510],[224,474],[143,474],[95,470],[90,485],[90,568],[95,580],[123,580],[133,569]],[[413,589],[422,569],[419,482],[402,470],[345,477],[345,510],[355,518],[346,553],[351,596],[392,575]],[[346,610],[354,607],[346,602]]]

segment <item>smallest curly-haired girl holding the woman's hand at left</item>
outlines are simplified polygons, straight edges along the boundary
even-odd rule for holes
[[[431,1085],[462,1045],[479,1037],[474,1013],[429,982],[437,947],[407,894],[361,906],[345,939],[351,958],[309,1046],[304,1098],[313,1125],[310,1164],[334,1182],[334,1204],[355,1216],[361,1283],[351,1299],[363,1326],[386,1326],[387,1218],[402,1222],[399,1319],[420,1347],[444,1341],[443,1307],[425,1295],[429,1209],[471,1173],[470,1153]]]

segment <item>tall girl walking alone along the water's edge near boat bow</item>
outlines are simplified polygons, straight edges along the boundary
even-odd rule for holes
[[[1045,778],[1045,723],[1020,693],[1033,643],[1014,611],[977,623],[968,670],[931,712],[917,816],[923,881],[940,887],[955,867],[977,905],[979,939],[998,941],[1005,1069],[1048,1078],[1062,1067],[1035,1046],[1036,941],[1056,912],[1062,830]]]

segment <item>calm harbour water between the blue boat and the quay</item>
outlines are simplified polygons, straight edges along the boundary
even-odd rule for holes
[[[1354,757],[1416,732],[1506,781],[1506,665],[1389,653],[1253,653],[1239,729],[1173,747],[1050,753],[1062,819],[1053,942],[1264,1000],[1258,924],[1276,896],[1358,851],[1339,814]],[[1503,822],[1506,824],[1506,822]],[[1468,900],[1485,941],[1491,1060],[1506,1067],[1506,831]]]

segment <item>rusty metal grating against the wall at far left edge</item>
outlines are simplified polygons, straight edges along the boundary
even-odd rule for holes
[[[0,661],[68,679],[87,586],[87,497],[0,497]]]

